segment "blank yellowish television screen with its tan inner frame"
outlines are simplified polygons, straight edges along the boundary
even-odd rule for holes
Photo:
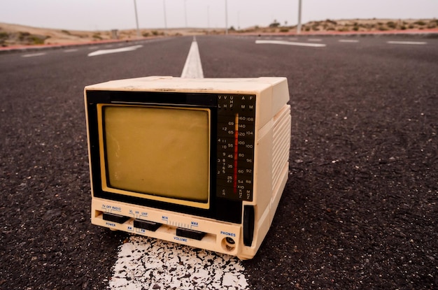
[[[210,110],[98,105],[104,190],[209,208]]]

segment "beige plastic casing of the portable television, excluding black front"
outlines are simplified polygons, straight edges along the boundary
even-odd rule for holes
[[[243,207],[249,205],[253,208],[253,220],[251,221],[253,225],[250,225],[253,226],[253,235],[250,245],[245,245],[243,242],[244,232],[248,231],[245,229],[245,226],[248,226],[245,224],[247,222],[244,221],[245,217],[242,217],[241,224],[234,224],[97,198],[92,193],[92,224],[230,254],[238,256],[239,259],[252,259],[269,231],[288,180],[291,118],[287,80],[285,78],[184,79],[158,76],[134,78],[85,87],[85,98],[87,98],[87,92],[95,90],[255,95],[253,199],[243,201],[242,205]],[[87,126],[88,121],[87,119]],[[87,133],[90,134],[88,130]],[[88,141],[90,144],[90,136],[88,136]],[[226,211],[227,208],[223,210]],[[112,212],[129,217],[129,219],[123,223],[111,222],[103,218],[105,212]],[[143,219],[158,223],[160,226],[155,231],[137,229],[134,221]],[[187,238],[185,235],[178,235],[178,229],[196,229],[204,235],[201,240]]]

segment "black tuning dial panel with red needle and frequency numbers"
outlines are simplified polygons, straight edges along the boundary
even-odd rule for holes
[[[218,197],[253,201],[255,95],[218,95]]]

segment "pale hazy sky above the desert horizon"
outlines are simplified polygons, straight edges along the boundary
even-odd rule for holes
[[[71,30],[228,27],[298,22],[299,0],[0,0],[0,22]],[[225,9],[227,7],[227,9]],[[164,9],[165,8],[165,9]],[[227,13],[225,13],[227,10]],[[165,11],[165,13],[164,13]],[[226,17],[227,15],[227,17]],[[312,20],[437,18],[438,0],[302,0]]]

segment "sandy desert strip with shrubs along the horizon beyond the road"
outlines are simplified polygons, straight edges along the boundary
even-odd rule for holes
[[[438,33],[438,20],[390,20],[355,19],[312,21],[302,25],[302,34],[332,33],[386,33],[422,32]],[[296,34],[297,27],[274,20],[268,27],[249,27],[235,29],[229,27],[229,34]],[[20,24],[0,23],[0,47],[20,45],[63,45],[70,43],[90,43],[94,41],[133,40],[157,36],[187,36],[202,34],[225,34],[225,29],[136,29],[118,31],[73,31],[66,29],[47,29],[28,27]]]

